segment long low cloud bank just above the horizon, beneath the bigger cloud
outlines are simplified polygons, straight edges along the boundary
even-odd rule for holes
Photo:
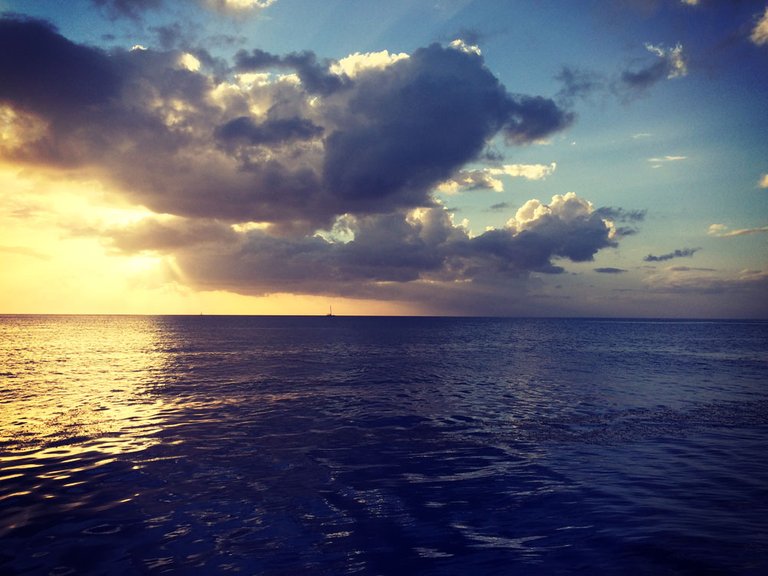
[[[169,251],[197,288],[367,298],[404,297],[436,284],[519,286],[535,272],[562,272],[555,260],[590,261],[616,245],[610,226],[573,193],[549,204],[531,200],[504,228],[475,237],[443,207],[348,215],[337,226],[342,239],[237,232],[190,219],[149,219],[103,234],[124,252]]]

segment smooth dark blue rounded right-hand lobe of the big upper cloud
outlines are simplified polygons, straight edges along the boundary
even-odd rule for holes
[[[356,81],[326,140],[332,194],[360,210],[430,204],[429,190],[503,131],[527,143],[571,117],[540,97],[513,97],[475,54],[433,44]]]

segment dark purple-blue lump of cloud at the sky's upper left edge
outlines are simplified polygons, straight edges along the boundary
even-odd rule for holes
[[[0,19],[0,102],[64,119],[106,103],[120,87],[102,51],[70,42],[46,22]]]

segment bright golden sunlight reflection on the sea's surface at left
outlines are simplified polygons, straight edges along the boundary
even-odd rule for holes
[[[0,322],[3,457],[114,455],[154,442],[162,403],[150,386],[164,363],[156,322],[103,316]]]

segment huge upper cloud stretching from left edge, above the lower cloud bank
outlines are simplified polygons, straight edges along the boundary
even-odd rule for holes
[[[551,100],[510,95],[480,56],[436,44],[353,79],[307,52],[240,52],[237,71],[277,66],[300,81],[233,88],[204,50],[105,53],[41,22],[0,26],[0,101],[48,122],[9,157],[93,167],[179,216],[306,233],[345,213],[429,206],[497,133],[522,144],[571,121]]]

